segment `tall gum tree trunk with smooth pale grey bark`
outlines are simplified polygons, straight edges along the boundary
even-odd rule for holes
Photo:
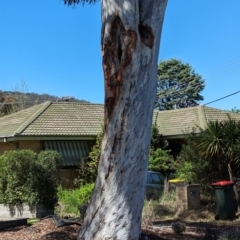
[[[140,237],[166,5],[167,0],[102,0],[105,126],[81,240]]]

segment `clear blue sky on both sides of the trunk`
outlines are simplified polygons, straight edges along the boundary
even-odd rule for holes
[[[159,60],[189,63],[205,104],[240,91],[240,1],[169,0]],[[0,1],[0,89],[104,102],[100,3]],[[240,93],[208,106],[240,109]]]

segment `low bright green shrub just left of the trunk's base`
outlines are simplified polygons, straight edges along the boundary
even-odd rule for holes
[[[58,200],[59,203],[64,206],[64,209],[60,215],[76,215],[79,216],[78,207],[88,202],[93,192],[94,184],[86,184],[79,189],[63,190],[58,188]]]

